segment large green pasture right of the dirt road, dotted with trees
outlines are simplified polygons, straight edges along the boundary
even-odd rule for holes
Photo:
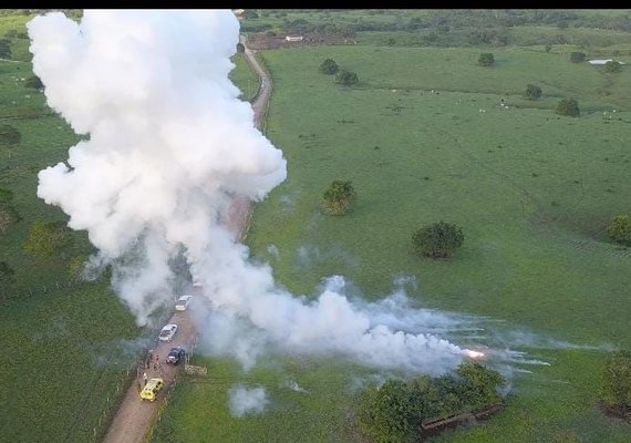
[[[283,150],[289,176],[256,208],[248,236],[254,256],[270,261],[294,293],[313,295],[323,277],[341,274],[376,299],[396,276],[412,275],[424,306],[577,344],[629,348],[631,250],[608,243],[603,229],[629,210],[624,91],[631,73],[572,64],[571,50],[493,50],[492,69],[476,65],[479,49],[265,52],[275,80],[268,134]],[[360,85],[344,89],[320,74],[327,58],[356,72]],[[527,83],[542,87],[540,101],[523,99]],[[551,111],[562,96],[579,101],[580,117]],[[319,209],[333,179],[351,179],[359,195],[345,217]],[[464,247],[447,261],[412,256],[413,230],[439,219],[463,226]],[[496,419],[433,441],[628,441],[629,425],[596,406],[603,350],[516,348],[550,367],[516,377],[511,401]],[[206,364],[210,378],[230,372],[215,367],[227,363]],[[319,410],[317,396],[325,395],[327,405],[350,401],[335,371],[304,369],[296,374],[299,384],[309,374],[317,379],[314,402],[292,409],[302,424]],[[272,390],[277,379],[260,383]],[[185,383],[175,393],[155,441],[169,441],[168,433],[186,433],[182,441],[252,441],[252,430],[269,435],[288,421],[270,412],[237,425],[227,415],[226,387],[208,384]],[[338,431],[313,441],[350,441],[344,420],[341,413],[322,419],[319,432]],[[285,426],[271,441],[310,439],[303,426]]]

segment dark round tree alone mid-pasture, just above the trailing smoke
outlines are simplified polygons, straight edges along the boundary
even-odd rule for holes
[[[447,258],[465,240],[461,227],[443,220],[427,225],[412,235],[414,253],[431,258]]]

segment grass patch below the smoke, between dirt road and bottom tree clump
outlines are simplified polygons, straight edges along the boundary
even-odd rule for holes
[[[353,395],[374,373],[337,360],[276,358],[250,372],[227,359],[194,359],[207,377],[185,377],[162,415],[154,443],[182,442],[340,442],[352,441]],[[234,416],[229,390],[263,388],[262,413]]]

